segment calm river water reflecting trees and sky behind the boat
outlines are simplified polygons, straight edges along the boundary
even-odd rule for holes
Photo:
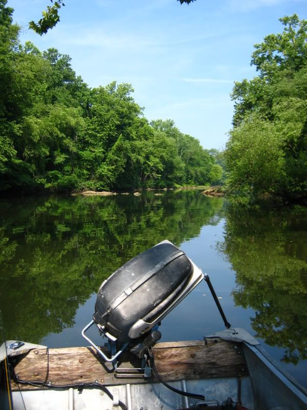
[[[163,191],[162,191],[163,192]],[[0,309],[7,339],[86,345],[101,282],[163,239],[211,278],[244,327],[307,387],[307,212],[243,212],[199,191],[0,201]],[[223,329],[206,283],[164,320],[163,340]],[[98,332],[93,329],[99,343]]]

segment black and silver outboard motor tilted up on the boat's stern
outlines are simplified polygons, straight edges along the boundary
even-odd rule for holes
[[[142,358],[161,338],[161,320],[203,278],[183,251],[164,240],[125,263],[101,284],[93,320],[84,327],[82,336],[107,362],[114,362],[127,346]],[[111,357],[85,335],[94,323],[113,346]]]

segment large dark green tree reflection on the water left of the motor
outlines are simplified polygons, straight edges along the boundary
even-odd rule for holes
[[[48,197],[2,201],[0,309],[6,338],[33,343],[75,325],[101,282],[163,239],[177,245],[216,224],[221,198],[199,191],[163,196]]]

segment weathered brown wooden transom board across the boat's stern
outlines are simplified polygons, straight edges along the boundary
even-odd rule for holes
[[[207,379],[216,377],[247,376],[241,343],[221,339],[205,341],[157,343],[153,348],[157,371],[165,381]],[[49,356],[49,372],[47,365]],[[119,358],[119,367],[134,368],[140,361],[130,352]],[[92,347],[69,347],[34,349],[28,354],[10,358],[16,375],[27,381],[45,381],[52,384],[94,382],[104,385],[144,383],[158,381],[150,378],[118,378],[113,370],[108,370]],[[108,367],[110,367],[108,363]],[[35,389],[30,385],[12,382],[12,390]]]

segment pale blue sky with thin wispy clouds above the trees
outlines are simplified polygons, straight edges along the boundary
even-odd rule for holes
[[[49,0],[9,0],[20,40],[55,47],[90,87],[131,83],[149,120],[171,118],[204,148],[223,149],[234,81],[252,78],[253,45],[282,31],[279,17],[307,18],[307,0],[66,0],[60,23],[28,30]]]

